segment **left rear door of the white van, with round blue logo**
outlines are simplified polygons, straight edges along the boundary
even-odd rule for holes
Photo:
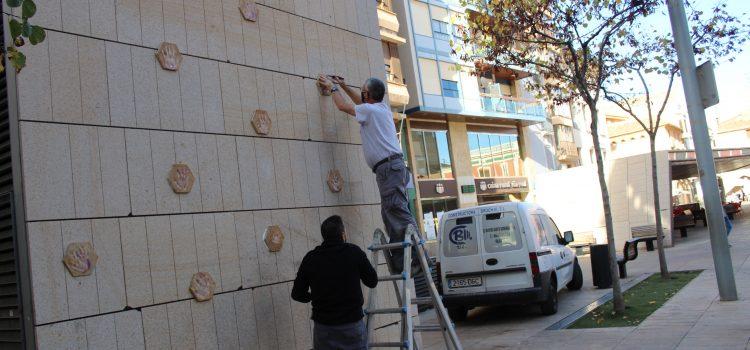
[[[440,268],[443,293],[463,294],[485,291],[476,217],[446,218],[441,230]]]

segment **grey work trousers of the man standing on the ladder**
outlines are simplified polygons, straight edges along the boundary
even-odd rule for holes
[[[403,242],[406,227],[409,224],[418,228],[417,222],[409,210],[409,196],[406,186],[411,174],[406,168],[403,159],[393,159],[381,164],[375,169],[378,189],[380,190],[381,215],[383,224],[391,242]],[[401,270],[404,261],[404,251],[391,250],[394,267]],[[416,260],[416,256],[412,261]]]

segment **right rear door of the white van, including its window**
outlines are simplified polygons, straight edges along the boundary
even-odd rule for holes
[[[493,292],[533,287],[528,242],[516,213],[483,212],[481,219],[486,290]]]

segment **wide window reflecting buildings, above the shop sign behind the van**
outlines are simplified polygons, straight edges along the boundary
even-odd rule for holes
[[[469,132],[467,138],[474,177],[521,176],[518,135]]]

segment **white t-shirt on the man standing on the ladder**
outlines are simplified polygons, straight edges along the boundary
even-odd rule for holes
[[[354,112],[362,135],[365,161],[370,168],[386,157],[401,153],[393,113],[385,102],[362,103],[354,106]]]

